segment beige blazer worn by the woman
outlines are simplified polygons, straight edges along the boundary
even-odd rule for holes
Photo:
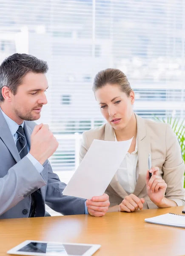
[[[174,200],[178,206],[185,205],[184,172],[185,164],[181,156],[179,142],[171,126],[163,122],[153,122],[136,115],[139,175],[134,195],[145,198],[144,209],[157,208],[146,190],[148,154],[152,167],[159,167],[159,175],[167,183],[165,197]],[[80,146],[80,162],[94,139],[114,141],[114,130],[108,123],[83,133]],[[114,175],[105,193],[109,195],[110,206],[120,204],[128,195]]]

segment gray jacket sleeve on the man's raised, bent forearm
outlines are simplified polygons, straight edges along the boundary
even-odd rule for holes
[[[23,157],[0,178],[0,215],[14,207],[30,192],[46,185],[46,180],[28,159]]]

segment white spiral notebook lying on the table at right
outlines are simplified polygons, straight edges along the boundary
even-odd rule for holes
[[[185,215],[177,215],[174,213],[167,213],[153,218],[145,218],[145,221],[153,224],[185,228]]]

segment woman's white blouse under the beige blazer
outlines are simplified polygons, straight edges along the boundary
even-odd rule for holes
[[[117,141],[116,134],[114,133],[115,141]],[[131,154],[127,152],[123,159],[120,168],[117,170],[117,179],[123,189],[128,195],[134,192],[136,182],[138,179],[138,154],[137,154],[137,138],[136,147]]]

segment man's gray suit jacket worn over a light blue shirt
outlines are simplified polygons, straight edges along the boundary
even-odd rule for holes
[[[35,122],[25,121],[24,130],[30,145]],[[62,195],[66,184],[53,173],[48,160],[39,174],[27,157],[20,159],[9,127],[0,111],[0,218],[26,218],[31,193],[40,189],[36,216],[45,215],[45,203],[63,215],[84,214],[85,200]]]

